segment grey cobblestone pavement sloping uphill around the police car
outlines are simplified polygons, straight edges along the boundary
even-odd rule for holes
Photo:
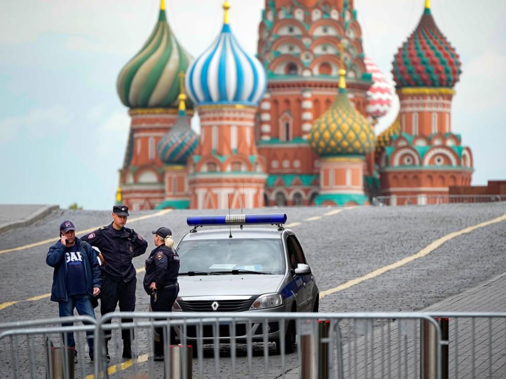
[[[423,249],[441,236],[506,213],[505,204],[442,205],[426,207],[362,207],[346,209],[338,214],[324,216],[333,208],[278,208],[261,210],[264,213],[286,212],[288,223],[300,222],[291,228],[302,241],[308,261],[317,278],[320,291],[338,286],[374,269],[393,263]],[[257,211],[255,211],[257,212]],[[132,218],[154,212],[132,212]],[[185,218],[199,211],[172,211],[162,216],[128,223],[127,226],[145,236],[153,248],[150,231],[161,225],[172,228],[176,239],[188,231]],[[219,214],[220,211],[206,211]],[[320,217],[321,218],[318,218]],[[311,218],[311,220],[307,220]],[[0,234],[0,250],[45,240],[58,235],[58,225],[64,219],[72,220],[78,230],[107,224],[110,212],[69,211],[53,212],[34,222],[29,230],[14,229]],[[326,296],[320,301],[320,311],[411,311],[421,310],[439,301],[506,272],[505,222],[477,229],[446,242],[428,256],[405,266],[364,281],[347,290]],[[0,254],[0,304],[19,301],[50,291],[52,269],[45,264],[49,244],[26,250]],[[134,260],[137,268],[145,257]],[[139,274],[137,310],[148,309],[148,298],[142,290]],[[506,310],[506,309],[502,309]],[[48,318],[58,315],[56,303],[48,298],[19,302],[0,310],[3,321]],[[97,312],[98,316],[98,312]],[[139,340],[141,346],[141,340]],[[230,377],[228,346],[221,347],[221,377]],[[275,346],[269,346],[274,354]],[[237,376],[247,372],[245,348],[238,348]],[[262,367],[263,347],[254,346],[254,365]],[[242,356],[241,356],[242,355]],[[205,351],[204,377],[214,377],[212,348]],[[2,357],[3,358],[3,357]],[[114,358],[114,356],[113,356]],[[81,359],[82,361],[82,359]],[[8,359],[7,362],[10,362]],[[10,363],[0,369],[0,376],[10,370]],[[79,363],[81,364],[81,363]],[[89,363],[82,363],[92,366]],[[270,359],[272,377],[279,373],[278,356]],[[299,366],[297,354],[287,356],[286,369]],[[158,369],[163,366],[158,364]],[[162,371],[161,371],[162,372]]]

